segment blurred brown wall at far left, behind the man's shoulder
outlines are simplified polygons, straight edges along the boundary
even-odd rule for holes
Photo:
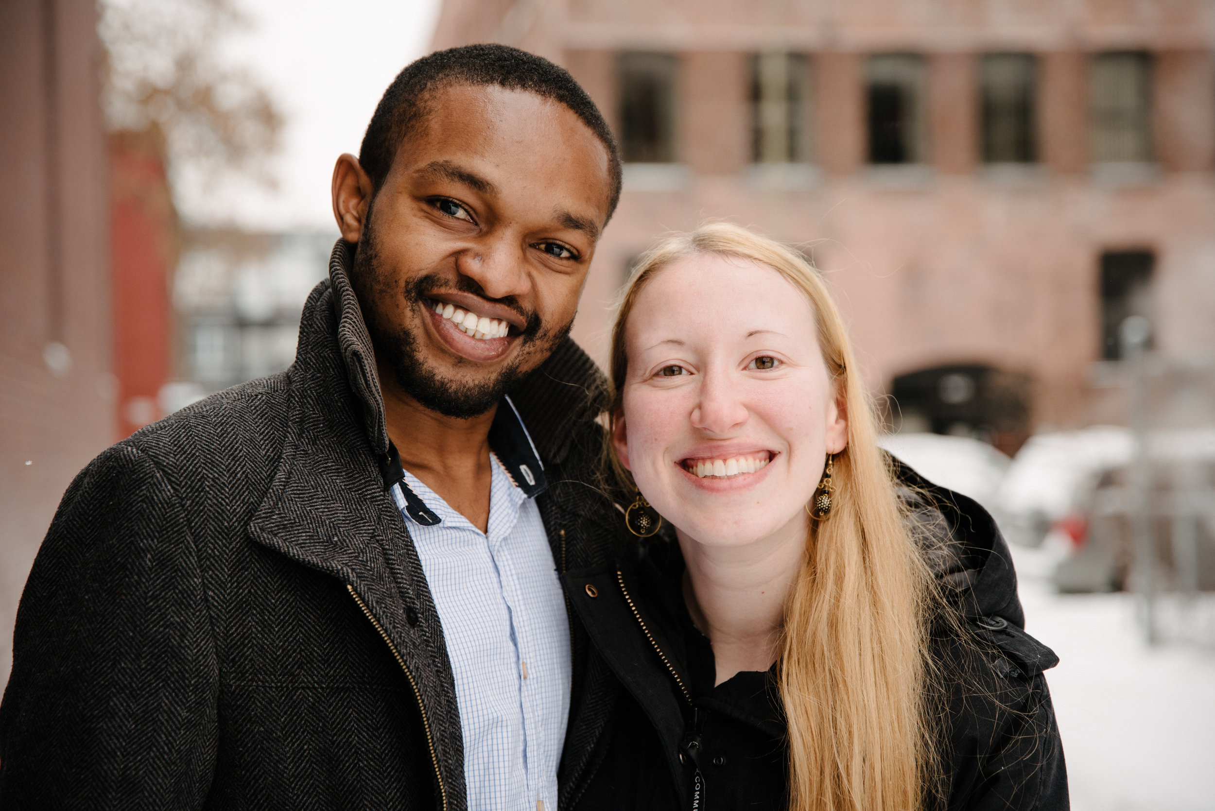
[[[0,4],[0,682],[55,507],[114,439],[96,13]]]

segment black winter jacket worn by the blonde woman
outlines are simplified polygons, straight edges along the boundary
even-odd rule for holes
[[[1042,670],[1055,654],[1027,635],[1008,549],[971,499],[898,465],[932,528],[931,562],[970,639],[933,629],[944,675],[944,773],[927,807],[1068,807],[1067,773]],[[934,503],[934,506],[929,506]],[[569,572],[564,585],[599,653],[627,690],[581,811],[778,811],[787,804],[785,722],[775,665],[713,686],[712,647],[683,600],[684,563],[669,535],[632,560]]]

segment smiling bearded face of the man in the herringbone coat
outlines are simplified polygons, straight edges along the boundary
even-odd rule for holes
[[[382,380],[391,370],[422,406],[469,418],[569,333],[609,155],[530,92],[450,86],[426,108],[363,217],[351,282]]]

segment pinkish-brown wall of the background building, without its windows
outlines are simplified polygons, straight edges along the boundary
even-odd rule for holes
[[[486,24],[522,11],[533,24],[519,40]],[[626,182],[573,331],[600,362],[629,259],[708,217],[813,255],[877,391],[905,372],[978,362],[1030,375],[1039,427],[1120,419],[1089,384],[1109,249],[1157,254],[1158,348],[1215,345],[1210,2],[450,0],[441,19],[436,47],[497,39],[559,53],[609,119],[620,51],[679,55],[679,160],[691,171],[666,189]],[[804,188],[750,180],[747,57],[763,49],[803,52],[813,66],[816,180]],[[1090,165],[1089,63],[1102,50],[1154,57],[1157,165],[1130,182]],[[865,57],[883,51],[926,57],[927,171],[865,164]],[[1040,163],[1027,171],[979,163],[977,67],[990,51],[1040,57]]]

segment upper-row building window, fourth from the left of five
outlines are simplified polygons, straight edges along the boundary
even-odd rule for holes
[[[988,53],[981,75],[983,161],[1034,163],[1038,58],[1030,53]]]

